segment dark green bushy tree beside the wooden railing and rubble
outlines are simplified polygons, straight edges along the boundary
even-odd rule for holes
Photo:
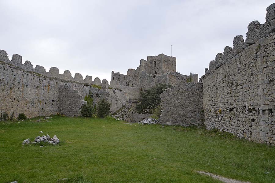
[[[171,87],[171,85],[156,84],[148,90],[143,90],[139,92],[139,101],[141,103],[137,105],[138,113],[152,114],[153,110],[161,103],[160,94],[168,87]]]

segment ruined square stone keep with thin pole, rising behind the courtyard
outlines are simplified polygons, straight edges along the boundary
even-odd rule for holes
[[[190,76],[182,75],[176,72],[176,58],[159,54],[157,56],[148,56],[147,61],[141,59],[137,69],[128,69],[127,75],[114,73],[112,71],[112,80],[110,86],[123,85],[135,88],[148,89],[160,83],[175,85],[180,80],[198,82],[198,74]]]

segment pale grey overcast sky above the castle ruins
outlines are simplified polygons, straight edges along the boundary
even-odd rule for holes
[[[48,72],[111,80],[140,59],[166,54],[177,71],[204,74],[251,21],[265,23],[271,0],[0,0],[0,49]]]

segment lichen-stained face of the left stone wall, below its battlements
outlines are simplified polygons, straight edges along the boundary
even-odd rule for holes
[[[15,117],[25,113],[28,118],[56,114],[60,85],[68,85],[82,96],[87,93],[83,84],[38,76],[0,62],[0,112],[14,112]]]

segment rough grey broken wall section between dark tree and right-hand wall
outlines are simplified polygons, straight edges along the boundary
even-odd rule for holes
[[[166,125],[203,125],[202,83],[181,83],[161,95],[160,123]]]

